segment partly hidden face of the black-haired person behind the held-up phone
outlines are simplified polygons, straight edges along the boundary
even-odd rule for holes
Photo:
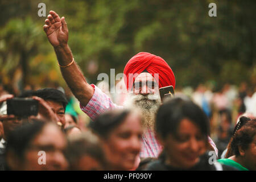
[[[51,107],[53,113],[57,115],[59,119],[57,122],[60,122],[63,126],[65,125],[65,109],[61,102],[56,102],[52,100],[47,100],[47,104]]]

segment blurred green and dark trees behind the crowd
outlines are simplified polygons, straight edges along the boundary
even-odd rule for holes
[[[69,46],[86,78],[122,73],[141,51],[163,57],[176,77],[177,88],[210,82],[256,85],[255,1],[55,0],[7,1],[0,4],[0,82],[65,85],[55,52],[43,31],[46,17],[38,4],[65,16]],[[217,17],[208,5],[217,5]]]

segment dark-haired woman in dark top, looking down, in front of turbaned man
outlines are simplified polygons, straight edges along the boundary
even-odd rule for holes
[[[147,171],[236,170],[218,163],[214,151],[207,151],[209,119],[188,98],[164,102],[156,114],[155,130],[164,148],[158,160],[148,164]]]

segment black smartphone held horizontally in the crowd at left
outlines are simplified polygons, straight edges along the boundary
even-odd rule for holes
[[[32,98],[11,98],[6,101],[7,114],[19,117],[38,115],[38,101]]]

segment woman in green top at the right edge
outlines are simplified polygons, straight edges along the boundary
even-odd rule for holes
[[[241,171],[256,171],[256,119],[248,121],[234,133],[231,150],[233,156],[218,162]]]

